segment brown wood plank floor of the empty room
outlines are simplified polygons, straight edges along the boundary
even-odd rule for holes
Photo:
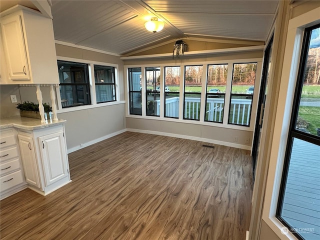
[[[0,201],[1,239],[245,239],[247,150],[125,132],[68,157],[71,183]]]

